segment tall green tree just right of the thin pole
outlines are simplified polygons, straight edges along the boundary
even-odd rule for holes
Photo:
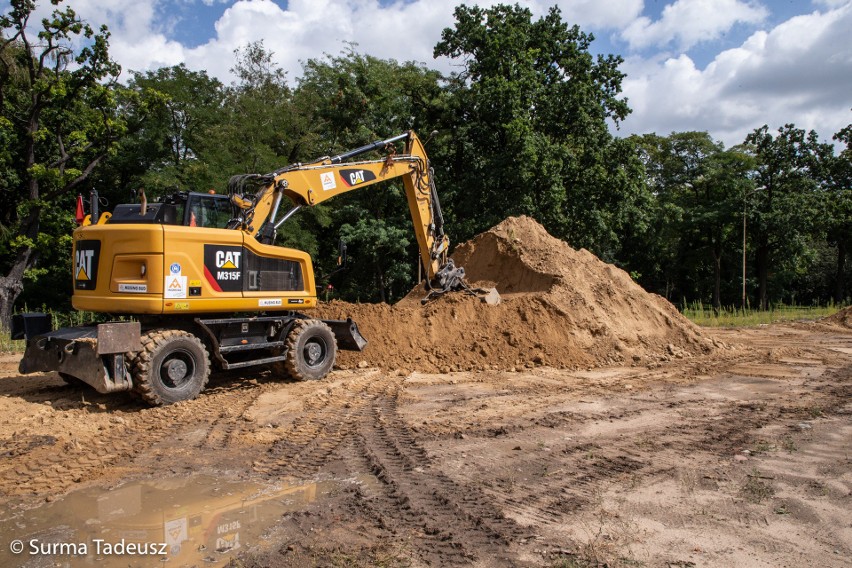
[[[767,126],[750,133],[745,150],[755,159],[754,235],[760,309],[769,307],[769,275],[797,268],[820,216],[817,193],[822,148],[817,133],[792,124],[773,135]],[[786,266],[785,266],[786,265]],[[783,289],[783,286],[781,287]]]

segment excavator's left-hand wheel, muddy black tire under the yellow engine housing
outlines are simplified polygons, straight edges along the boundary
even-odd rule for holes
[[[142,335],[142,350],[131,364],[133,390],[150,405],[191,400],[207,386],[210,357],[201,341],[180,329]]]

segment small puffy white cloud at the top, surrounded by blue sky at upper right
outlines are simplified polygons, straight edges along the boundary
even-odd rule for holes
[[[769,12],[754,2],[742,0],[677,0],[663,9],[652,22],[647,17],[634,20],[621,33],[632,48],[666,46],[676,43],[687,50],[702,41],[721,37],[737,23],[757,24]]]

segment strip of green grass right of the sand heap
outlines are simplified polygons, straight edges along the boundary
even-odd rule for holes
[[[705,327],[754,327],[781,321],[817,320],[836,314],[841,306],[772,306],[768,310],[746,309],[733,306],[715,312],[701,302],[681,306],[681,313],[690,321]]]

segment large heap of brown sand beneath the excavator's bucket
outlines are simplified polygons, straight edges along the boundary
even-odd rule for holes
[[[633,364],[708,351],[710,341],[663,298],[529,217],[509,218],[460,245],[453,258],[503,302],[447,295],[426,306],[413,290],[394,306],[331,302],[323,318],[352,317],[369,340],[340,364],[447,372],[548,365]]]

